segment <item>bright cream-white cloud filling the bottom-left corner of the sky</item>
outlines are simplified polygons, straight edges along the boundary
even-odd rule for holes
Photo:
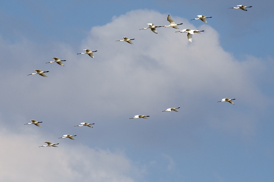
[[[52,142],[60,142],[58,148],[38,147],[51,137],[35,131],[15,134],[1,129],[0,135],[0,181],[133,182],[142,178],[139,166],[123,152],[92,149],[77,140],[64,143],[57,138]]]

